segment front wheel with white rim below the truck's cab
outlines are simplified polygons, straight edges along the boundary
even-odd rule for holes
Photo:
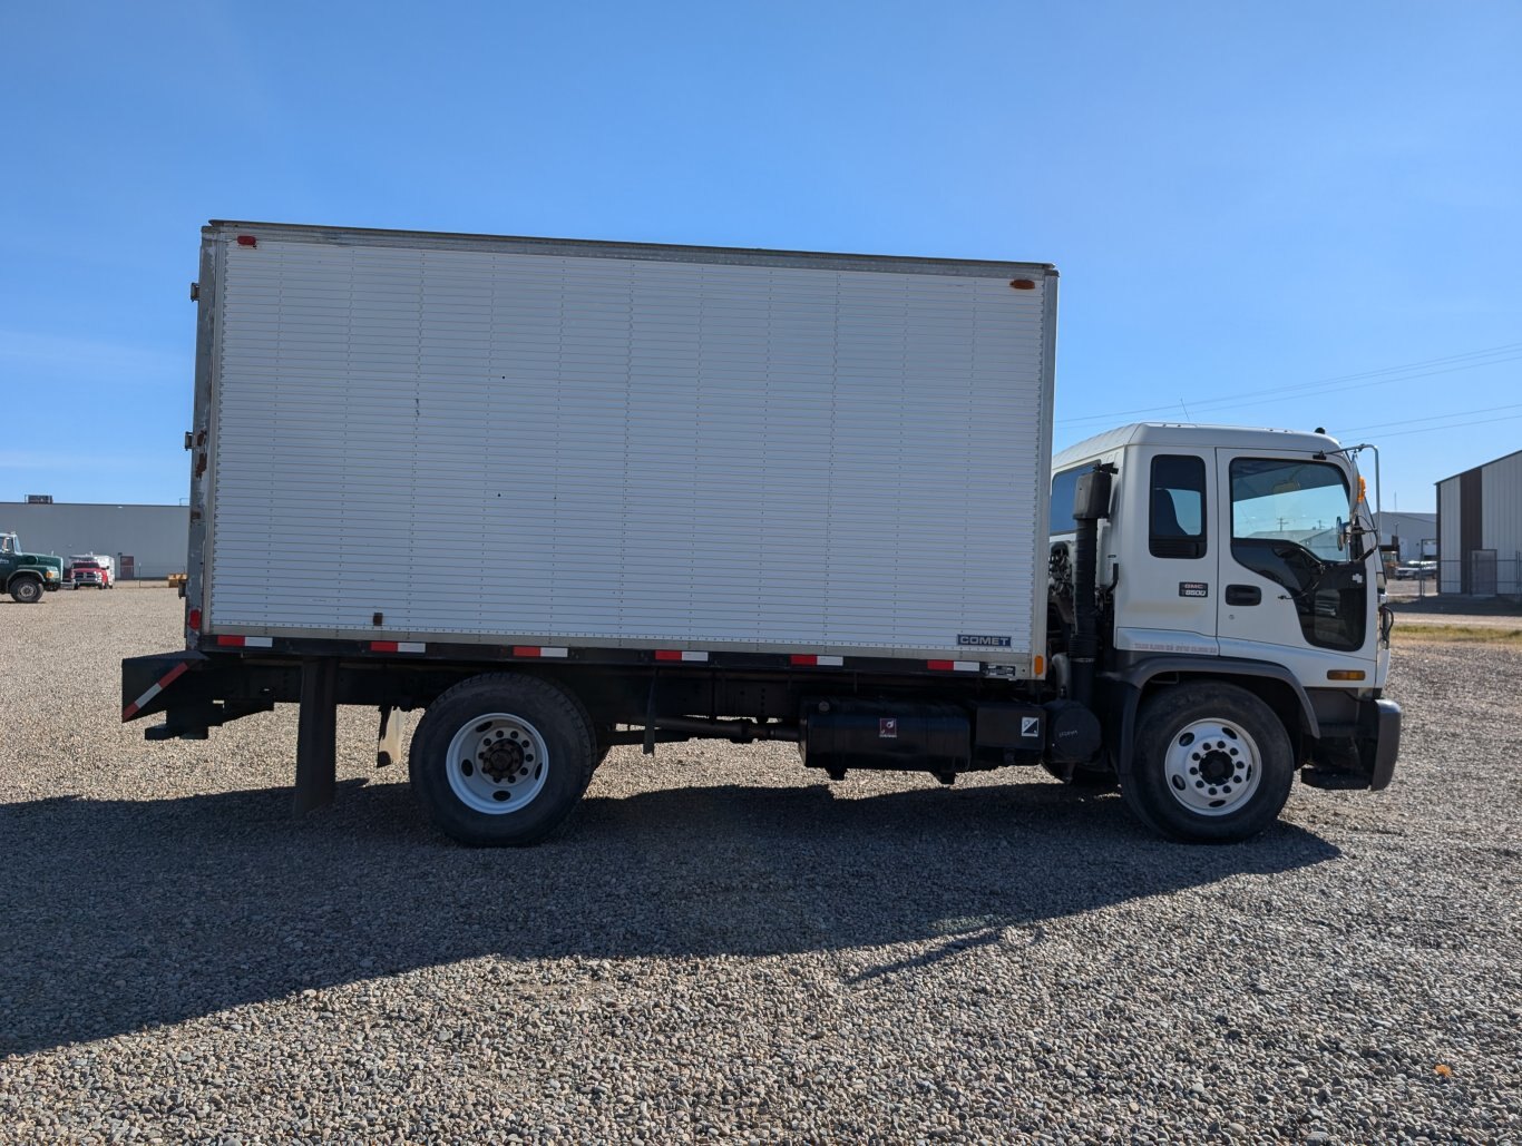
[[[1274,709],[1236,685],[1184,683],[1143,703],[1120,791],[1154,831],[1234,843],[1278,817],[1294,778]]]

